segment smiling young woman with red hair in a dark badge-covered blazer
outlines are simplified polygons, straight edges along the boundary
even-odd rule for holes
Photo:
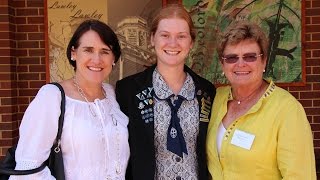
[[[160,10],[151,23],[157,64],[117,82],[129,116],[126,179],[207,180],[205,142],[214,86],[185,65],[195,31],[181,5]]]

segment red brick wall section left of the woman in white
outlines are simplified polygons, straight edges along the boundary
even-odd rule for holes
[[[0,156],[16,143],[23,113],[45,84],[44,2],[0,0]]]

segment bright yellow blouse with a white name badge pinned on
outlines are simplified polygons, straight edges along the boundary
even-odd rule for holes
[[[217,130],[231,99],[230,86],[217,89],[207,137],[208,168],[214,180],[316,179],[312,132],[304,109],[273,82],[227,128],[219,157]]]

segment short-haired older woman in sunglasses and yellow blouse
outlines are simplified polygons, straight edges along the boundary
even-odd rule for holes
[[[230,82],[219,87],[207,137],[213,179],[316,179],[310,125],[302,105],[263,79],[268,40],[255,24],[231,24],[218,54]]]

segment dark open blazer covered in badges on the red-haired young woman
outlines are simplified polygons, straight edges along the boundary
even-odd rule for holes
[[[152,74],[156,65],[126,77],[116,83],[116,98],[121,110],[129,117],[130,159],[126,180],[154,180],[156,158],[154,146]],[[199,180],[208,180],[206,135],[216,90],[212,83],[195,74],[187,66],[184,71],[192,77],[199,102],[199,135],[197,159]],[[142,113],[145,112],[145,113]]]

